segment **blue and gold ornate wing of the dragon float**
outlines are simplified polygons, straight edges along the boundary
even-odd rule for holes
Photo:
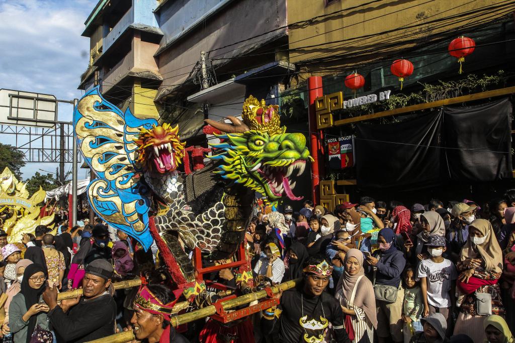
[[[149,190],[139,180],[134,139],[142,128],[150,129],[158,122],[136,118],[129,109],[122,112],[95,87],[79,100],[73,123],[78,147],[97,176],[88,186],[93,210],[147,250],[153,241]]]

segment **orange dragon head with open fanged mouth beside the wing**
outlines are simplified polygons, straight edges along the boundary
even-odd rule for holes
[[[134,143],[138,145],[138,162],[147,170],[158,173],[174,171],[184,157],[184,146],[179,135],[179,126],[172,128],[170,124],[142,129]]]

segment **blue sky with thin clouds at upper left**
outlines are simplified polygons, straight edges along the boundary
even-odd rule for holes
[[[0,89],[80,98],[80,75],[88,66],[89,39],[80,36],[97,0],[0,0]],[[72,120],[72,106],[60,105],[60,121]],[[3,143],[14,144],[14,135]],[[27,163],[23,178],[57,163]],[[70,165],[66,165],[68,170]],[[79,179],[84,178],[79,169]]]

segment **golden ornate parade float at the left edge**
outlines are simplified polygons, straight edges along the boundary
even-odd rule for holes
[[[22,234],[34,234],[38,225],[54,229],[54,215],[46,215],[39,206],[46,196],[41,187],[29,197],[27,184],[19,181],[8,167],[0,174],[0,180],[0,219],[9,243],[20,244]]]

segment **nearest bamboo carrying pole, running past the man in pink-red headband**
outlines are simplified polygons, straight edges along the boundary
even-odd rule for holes
[[[295,287],[296,283],[301,281],[302,278],[298,278],[295,280],[290,280],[281,283],[280,285],[271,287],[272,293],[277,294],[279,293],[279,290],[287,290],[290,288]],[[224,308],[224,311],[230,310],[231,308],[234,308],[239,305],[245,305],[248,304],[254,300],[259,300],[266,298],[268,295],[266,293],[266,290],[260,290],[258,292],[246,294],[241,297],[237,297],[231,300],[227,300],[222,302],[222,308]],[[196,310],[190,313],[185,313],[179,316],[171,317],[170,323],[173,327],[178,327],[179,325],[189,323],[198,319],[202,319],[205,317],[209,317],[211,315],[214,315],[216,313],[215,306],[210,305],[204,308],[200,308],[200,310]],[[125,343],[129,342],[131,340],[135,339],[134,334],[132,331],[124,331],[121,333],[117,333],[111,336],[91,340],[88,343]]]

